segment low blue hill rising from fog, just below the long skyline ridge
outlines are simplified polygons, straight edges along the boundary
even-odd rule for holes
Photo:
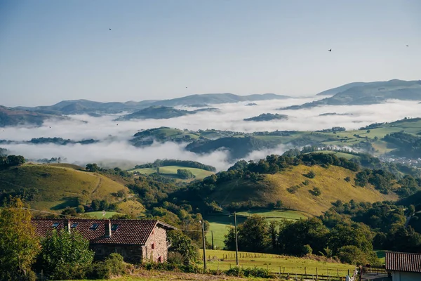
[[[215,111],[217,108],[201,108],[199,110],[177,110],[168,106],[151,106],[145,109],[133,112],[129,115],[124,115],[117,120],[130,120],[130,119],[170,119],[185,115],[192,115],[203,111]]]

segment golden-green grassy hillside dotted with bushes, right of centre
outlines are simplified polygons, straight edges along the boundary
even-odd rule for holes
[[[310,170],[316,173],[315,178],[303,176]],[[344,180],[349,176],[352,181]],[[293,166],[286,171],[274,175],[265,175],[263,181],[253,183],[252,181],[234,180],[219,185],[211,196],[222,205],[229,202],[247,202],[252,200],[265,205],[269,202],[281,200],[283,207],[303,211],[309,215],[320,215],[332,206],[332,202],[342,200],[349,202],[377,202],[383,200],[396,200],[396,195],[382,195],[374,188],[356,187],[354,185],[355,173],[338,166],[330,166],[328,169],[321,166]],[[302,185],[294,194],[287,191],[293,185],[300,185],[304,181],[309,185]],[[318,187],[321,190],[320,196],[312,195],[309,190]]]

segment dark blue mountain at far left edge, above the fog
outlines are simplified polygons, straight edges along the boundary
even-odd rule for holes
[[[0,127],[35,125],[41,126],[46,119],[65,119],[58,115],[49,115],[28,110],[17,110],[15,108],[0,105]]]

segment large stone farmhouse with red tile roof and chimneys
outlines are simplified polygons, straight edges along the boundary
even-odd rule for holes
[[[166,231],[175,229],[153,220],[32,218],[32,224],[39,237],[52,230],[78,231],[89,240],[95,259],[118,253],[131,263],[166,261],[170,247]]]

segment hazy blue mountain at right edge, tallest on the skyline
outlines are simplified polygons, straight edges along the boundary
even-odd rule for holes
[[[280,110],[299,110],[323,105],[372,105],[383,103],[385,100],[421,100],[421,81],[377,81],[353,86],[345,91],[336,93],[330,98],[323,98],[312,103],[293,105]]]

